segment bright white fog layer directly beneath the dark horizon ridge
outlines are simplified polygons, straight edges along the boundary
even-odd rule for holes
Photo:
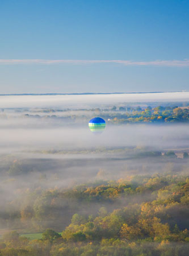
[[[0,96],[0,108],[90,109],[125,102],[188,101],[189,92]]]

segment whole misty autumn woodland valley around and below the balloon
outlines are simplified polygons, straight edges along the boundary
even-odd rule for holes
[[[187,255],[183,103],[3,108],[0,119],[0,255]]]

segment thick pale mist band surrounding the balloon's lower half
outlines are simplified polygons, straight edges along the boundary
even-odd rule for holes
[[[1,121],[1,151],[20,152],[22,150],[90,150],[92,148],[151,147],[154,150],[166,148],[188,148],[188,125],[109,125],[102,134],[93,134],[88,123],[82,125],[56,126],[56,121],[36,119]],[[18,124],[18,127],[16,127]],[[56,126],[56,127],[53,127]]]

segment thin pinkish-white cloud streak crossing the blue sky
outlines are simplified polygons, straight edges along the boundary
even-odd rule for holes
[[[189,59],[184,60],[45,60],[45,59],[0,59],[0,64],[102,64],[116,63],[125,66],[189,67]]]

